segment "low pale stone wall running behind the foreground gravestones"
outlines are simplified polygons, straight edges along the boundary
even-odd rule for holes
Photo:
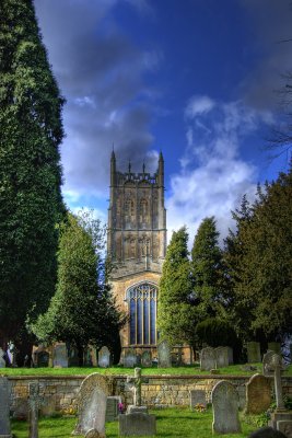
[[[27,415],[28,383],[39,382],[39,392],[44,397],[42,414],[54,412],[70,412],[77,408],[77,394],[83,376],[61,377],[10,377],[12,385],[11,411],[16,417]],[[125,376],[115,376],[114,394],[121,395],[126,405],[132,403],[132,392],[126,382]],[[142,401],[149,406],[189,406],[189,391],[205,390],[207,400],[214,384],[222,379],[232,382],[240,396],[240,406],[245,405],[245,388],[249,377],[234,376],[149,376],[142,384]],[[273,380],[271,378],[271,380]],[[292,377],[282,378],[283,395],[292,397]]]

